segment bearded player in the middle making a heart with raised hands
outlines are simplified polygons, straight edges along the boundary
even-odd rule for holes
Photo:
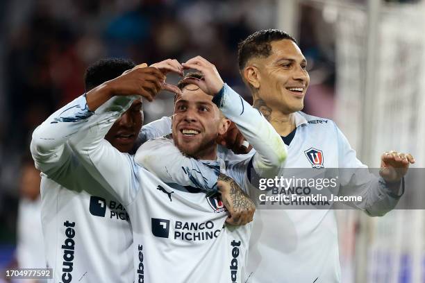
[[[246,111],[242,116],[261,126],[262,130],[255,131],[264,135],[251,139],[261,140],[256,155],[258,164],[281,166],[286,155],[285,145],[264,117],[224,85],[209,62],[195,58],[186,67],[199,68],[204,78],[197,82],[203,92],[182,94],[176,103],[173,136],[181,151],[199,160],[217,158],[215,140],[230,124],[219,114],[216,106],[219,105],[235,122]],[[88,112],[97,108],[92,106],[92,96],[101,95],[102,89],[108,90],[108,83],[87,94]],[[213,98],[213,94],[217,95]],[[128,107],[125,98],[115,98],[98,108],[97,121],[88,121],[88,126],[78,132],[78,139],[73,139],[71,144],[94,178],[116,194],[130,214],[135,244],[135,280],[241,282],[249,226],[224,226],[226,212],[216,198],[206,198],[190,187],[163,182],[135,164],[131,156],[119,153],[104,141],[110,126]],[[242,119],[240,123],[250,124],[243,123]],[[250,133],[256,135],[253,130]],[[227,173],[238,178],[236,173]],[[233,190],[234,182],[231,187]],[[239,195],[233,197],[240,200],[238,205],[252,205]]]

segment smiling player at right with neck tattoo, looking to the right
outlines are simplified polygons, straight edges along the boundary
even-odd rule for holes
[[[285,167],[366,167],[333,121],[300,112],[310,78],[306,58],[293,37],[276,29],[253,33],[240,43],[238,60],[254,107],[289,146]],[[351,170],[340,187],[363,196],[358,207],[367,214],[381,216],[397,204],[403,194],[401,179],[414,162],[410,154],[383,153],[381,180],[359,178]],[[329,209],[258,209],[248,282],[340,282],[337,234]]]

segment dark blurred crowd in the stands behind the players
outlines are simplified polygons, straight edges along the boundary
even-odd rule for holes
[[[0,267],[16,245],[19,191],[21,202],[39,198],[39,180],[28,169],[31,132],[84,93],[88,65],[106,57],[150,64],[202,55],[250,101],[238,74],[237,45],[253,31],[276,28],[278,17],[274,0],[16,0],[0,8]],[[333,39],[320,32],[332,23],[322,18],[301,6],[298,37],[312,76],[306,112],[315,105],[311,110],[322,112],[311,114],[332,117]],[[147,103],[145,121],[171,114],[172,101],[162,94]]]

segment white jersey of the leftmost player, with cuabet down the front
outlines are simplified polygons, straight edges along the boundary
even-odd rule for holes
[[[133,237],[125,207],[78,162],[68,141],[85,124],[83,96],[35,129],[42,171],[42,230],[51,282],[133,282]]]

